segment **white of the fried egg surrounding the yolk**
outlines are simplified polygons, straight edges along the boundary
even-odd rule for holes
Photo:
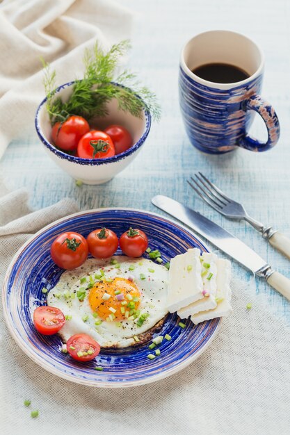
[[[79,268],[63,272],[58,284],[49,290],[47,304],[61,309],[66,316],[72,316],[70,320],[66,320],[59,332],[65,342],[74,334],[85,333],[94,338],[101,347],[127,347],[136,343],[134,336],[152,328],[168,313],[166,300],[168,270],[163,265],[146,258],[113,256],[113,259],[120,264],[120,268],[111,264],[111,258],[106,260],[88,258]],[[129,270],[130,265],[134,265],[134,270]],[[136,321],[127,319],[122,322],[102,320],[101,325],[95,325],[98,319],[93,317],[88,303],[90,290],[86,290],[83,302],[76,297],[76,292],[89,284],[90,277],[91,280],[97,281],[94,276],[99,274],[100,268],[104,271],[105,279],[134,277],[134,284],[140,291],[138,309],[140,313],[149,313],[149,317],[141,327],[136,325]],[[154,272],[150,272],[149,269]],[[141,279],[140,276],[145,276],[145,279]],[[85,277],[87,282],[81,283],[81,279]],[[75,297],[72,298],[72,295]],[[83,321],[84,318],[87,318],[86,321]]]

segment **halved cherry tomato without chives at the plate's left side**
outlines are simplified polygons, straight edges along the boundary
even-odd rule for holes
[[[56,334],[65,324],[63,312],[54,306],[38,306],[33,313],[35,328],[45,336]]]

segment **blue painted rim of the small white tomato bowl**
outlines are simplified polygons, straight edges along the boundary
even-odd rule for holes
[[[64,83],[63,85],[58,86],[58,88],[56,89],[56,93],[65,89],[65,88],[68,88],[68,87],[74,85],[74,83],[76,83],[76,81],[70,81],[69,83]],[[120,85],[119,83],[115,83],[115,82],[111,82],[111,83],[113,83],[116,86],[120,86],[120,88],[126,88],[125,86]],[[140,97],[138,97],[138,98],[140,98]],[[53,152],[56,156],[58,156],[59,158],[65,159],[67,161],[77,163],[79,165],[90,165],[90,166],[96,165],[97,166],[97,165],[106,165],[107,163],[113,163],[113,162],[120,161],[123,158],[126,158],[127,156],[130,156],[131,154],[136,152],[141,147],[141,145],[143,145],[143,143],[145,142],[145,140],[150,132],[151,115],[150,115],[149,110],[143,110],[143,113],[145,115],[145,130],[143,132],[143,135],[140,137],[140,139],[131,148],[127,149],[127,151],[124,151],[124,152],[117,154],[115,156],[106,157],[106,158],[90,159],[90,158],[81,158],[81,157],[70,156],[69,154],[65,154],[63,151],[56,149],[56,147],[54,147],[54,145],[52,145],[50,142],[48,142],[48,140],[42,134],[42,130],[40,127],[40,121],[39,121],[39,114],[40,114],[40,110],[42,109],[42,106],[44,104],[46,104],[46,102],[47,102],[47,97],[45,97],[45,99],[42,100],[42,102],[38,106],[38,109],[36,110],[36,114],[35,114],[35,129],[36,129],[36,132],[38,133],[38,137],[40,138],[42,144],[45,145],[45,147],[47,147],[47,149],[49,149],[49,151]]]

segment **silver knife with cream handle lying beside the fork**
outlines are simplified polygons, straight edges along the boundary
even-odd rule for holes
[[[207,217],[169,197],[156,195],[152,198],[152,204],[186,224],[227,255],[239,261],[245,268],[250,269],[258,277],[264,278],[275,290],[290,300],[290,279],[275,272],[263,258],[239,238],[211,222]]]

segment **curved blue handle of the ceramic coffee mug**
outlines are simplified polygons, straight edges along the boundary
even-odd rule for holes
[[[274,147],[280,137],[280,124],[278,117],[273,107],[262,99],[259,95],[254,94],[249,99],[243,102],[243,110],[255,110],[263,118],[268,131],[267,142],[259,142],[255,138],[251,138],[248,134],[239,140],[239,147],[249,149],[250,151],[267,151]]]

